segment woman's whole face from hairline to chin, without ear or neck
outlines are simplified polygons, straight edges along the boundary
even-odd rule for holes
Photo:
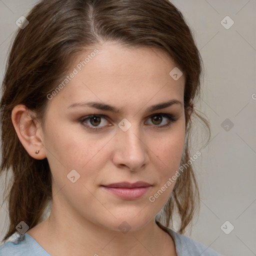
[[[77,58],[73,75],[48,100],[42,141],[52,210],[80,223],[138,230],[159,212],[175,183],[169,178],[184,146],[185,78],[177,69],[170,73],[176,65],[159,49],[113,42],[95,48],[96,54]],[[147,184],[127,188],[138,181]]]

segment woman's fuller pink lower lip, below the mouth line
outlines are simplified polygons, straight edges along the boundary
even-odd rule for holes
[[[148,191],[150,187],[151,186],[126,188],[103,186],[104,189],[126,200],[132,200],[141,197]]]

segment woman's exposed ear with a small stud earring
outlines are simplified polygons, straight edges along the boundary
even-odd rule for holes
[[[43,146],[41,123],[33,117],[33,112],[25,105],[16,105],[11,112],[11,120],[17,136],[30,156],[35,159],[46,157]],[[39,150],[39,153],[35,151]]]

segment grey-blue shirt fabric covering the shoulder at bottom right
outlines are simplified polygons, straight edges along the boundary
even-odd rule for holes
[[[176,233],[172,229],[157,223],[163,230],[170,234],[175,243],[177,256],[221,256],[218,252],[210,247],[185,235]]]

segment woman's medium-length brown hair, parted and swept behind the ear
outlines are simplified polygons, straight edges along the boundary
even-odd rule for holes
[[[41,0],[26,19],[29,24],[17,31],[8,56],[0,101],[0,172],[9,168],[13,171],[11,184],[5,184],[6,190],[10,188],[10,223],[3,241],[22,220],[29,228],[38,224],[52,199],[48,161],[34,159],[26,152],[14,130],[11,111],[15,105],[24,104],[43,123],[46,95],[72,68],[71,60],[79,52],[105,41],[164,50],[186,78],[187,139],[181,164],[190,159],[191,116],[199,117],[209,130],[208,121],[193,107],[200,92],[201,56],[184,17],[168,0]],[[163,224],[172,225],[176,208],[181,221],[177,231],[183,233],[192,220],[198,198],[193,168],[189,165],[180,173],[164,206]]]

